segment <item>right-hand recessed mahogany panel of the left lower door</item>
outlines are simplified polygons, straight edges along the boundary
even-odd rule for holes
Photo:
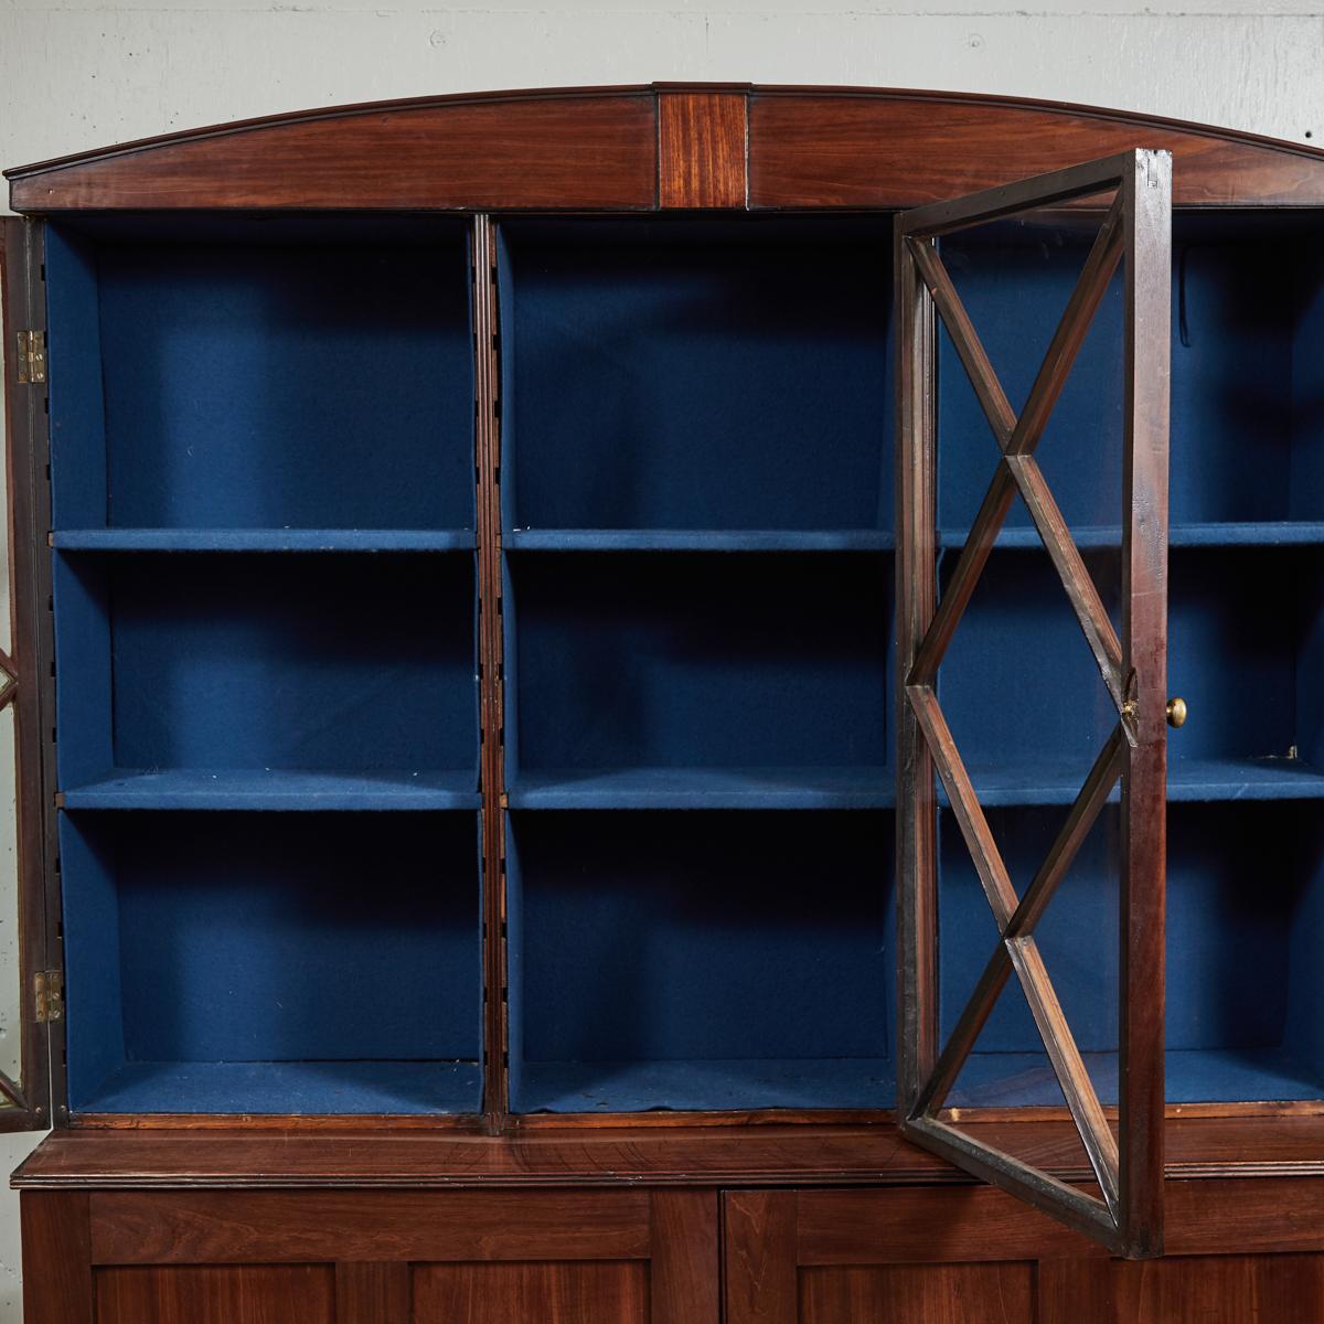
[[[647,1266],[638,1262],[420,1264],[413,1274],[412,1324],[654,1324],[657,1319],[649,1313]],[[711,1321],[716,1324],[716,1316]],[[708,1321],[695,1316],[694,1324]]]

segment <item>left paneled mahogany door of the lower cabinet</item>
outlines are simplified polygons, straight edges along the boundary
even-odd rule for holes
[[[718,1324],[718,1194],[25,1192],[28,1324]]]

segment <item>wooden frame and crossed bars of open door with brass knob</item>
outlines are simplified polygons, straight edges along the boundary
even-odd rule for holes
[[[896,221],[900,1125],[916,1143],[1127,1256],[1162,1253],[1165,723],[1180,724],[1184,716],[1176,706],[1169,708],[1165,690],[1170,184],[1169,154],[1136,150],[922,207]],[[1090,207],[1076,205],[1095,199]],[[1092,207],[1099,211],[1092,212]],[[1043,216],[1045,208],[1064,208],[1062,214],[1074,216],[1074,226],[1090,224],[1098,233],[1082,249],[1086,256],[1079,278],[1017,410],[981,340],[981,331],[1001,312],[985,307],[988,299],[980,301],[980,315],[968,311],[957,293],[960,282],[953,282],[951,263],[944,263],[947,248],[940,241],[1031,211]],[[1111,406],[1120,412],[1120,473],[1106,499],[1108,510],[1120,514],[1120,528],[1113,549],[1117,584],[1110,596],[1100,593],[1082,556],[1086,543],[1078,545],[1055,482],[1046,477],[1035,451],[1091,322],[1110,286],[1117,290],[1115,278],[1120,279],[1116,307],[1123,346],[1120,383],[1110,383],[1110,389],[1119,397]],[[1002,291],[1023,319],[1014,271]],[[1004,303],[1002,312],[1006,310]],[[978,401],[972,414],[982,413],[996,442],[988,448],[990,481],[982,500],[972,500],[973,518],[961,520],[964,538],[940,531],[937,518],[940,330]],[[1070,449],[1072,440],[1064,445]],[[1088,463],[1090,457],[1076,459]],[[982,481],[981,475],[977,482]],[[1053,579],[1055,605],[1067,613],[1068,622],[1074,616],[1084,636],[1082,642],[1071,630],[1072,647],[1088,650],[1083,658],[1103,719],[1092,765],[1087,759],[1083,773],[1072,777],[1071,790],[1059,797],[1061,809],[1045,810],[1057,814],[1053,831],[1046,851],[1035,853],[1037,866],[1025,870],[1009,867],[1012,855],[1000,849],[986,812],[989,802],[1006,802],[990,800],[985,789],[1005,785],[1005,779],[981,781],[984,765],[963,752],[960,731],[953,731],[957,723],[949,722],[952,706],[941,688],[944,658],[961,632],[994,544],[1008,545],[1009,539],[998,543],[998,535],[1016,507],[1023,527],[1012,532],[1025,535],[1019,545],[1033,542],[1041,556],[1046,552],[1043,571]],[[1117,514],[1110,514],[1108,520],[1116,523]],[[1098,534],[1091,528],[1091,535]],[[1092,536],[1091,545],[1094,542]],[[940,543],[951,545],[955,560],[941,576]],[[1057,580],[1064,597],[1057,597]],[[1009,600],[1022,602],[1023,592]],[[1016,647],[1019,620],[1014,610],[1004,617],[997,637],[1004,661],[1006,649]],[[1038,683],[1039,661],[1033,647],[1016,659],[1013,671],[1019,669],[1023,687]],[[1013,748],[1016,744],[1004,736],[993,757],[1022,764],[1037,757],[1033,743]],[[985,751],[985,764],[988,757]],[[1119,782],[1120,809],[1110,854],[1120,912],[1112,1112],[1100,1102],[1037,929],[1091,828],[1106,806],[1111,810],[1108,801]],[[1053,802],[1051,797],[1037,801]],[[970,945],[977,953],[967,960],[967,965],[974,963],[968,972],[972,992],[956,1006],[948,998],[945,1017],[940,968],[945,973],[949,961],[940,957],[939,948],[940,812],[949,837],[957,841],[955,847],[943,843],[941,858],[964,850],[963,867],[973,866],[993,920],[993,939],[982,949]],[[1022,857],[1023,851],[1017,866]],[[1014,876],[1018,873],[1019,879]],[[1098,933],[1082,932],[1078,940],[1098,943]],[[985,956],[978,973],[977,963]],[[1079,1132],[1098,1194],[978,1139],[972,1133],[978,1128],[963,1128],[964,1113],[944,1112],[1000,994],[1017,986],[1023,990],[1051,1076]]]

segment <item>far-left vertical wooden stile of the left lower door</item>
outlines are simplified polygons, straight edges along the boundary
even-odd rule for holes
[[[25,1324],[91,1324],[86,1192],[25,1192],[19,1205]]]

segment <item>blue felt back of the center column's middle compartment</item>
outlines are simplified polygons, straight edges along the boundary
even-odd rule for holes
[[[886,556],[511,557],[519,765],[888,757]]]

